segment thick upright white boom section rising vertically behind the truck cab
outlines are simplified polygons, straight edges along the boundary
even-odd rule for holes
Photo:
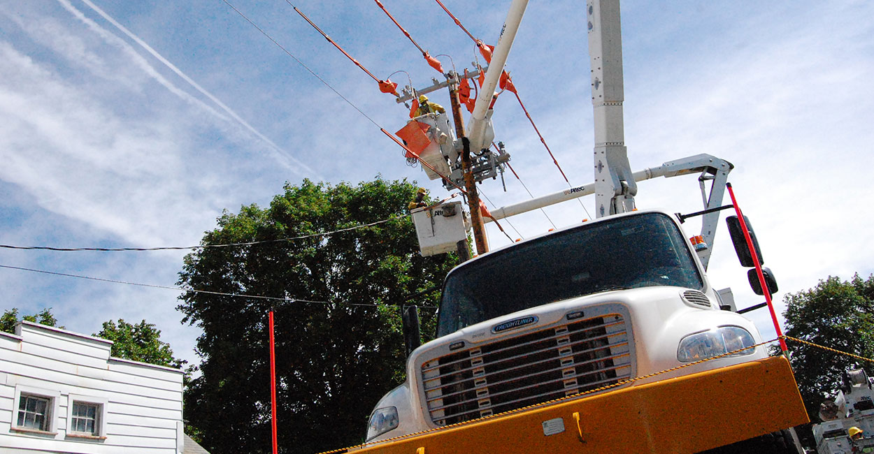
[[[622,33],[619,0],[588,0],[589,59],[595,126],[596,217],[635,209],[637,185],[622,124]]]

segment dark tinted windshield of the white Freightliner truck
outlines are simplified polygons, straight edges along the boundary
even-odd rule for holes
[[[680,230],[661,213],[583,224],[517,244],[447,277],[437,334],[503,314],[610,290],[704,281]]]

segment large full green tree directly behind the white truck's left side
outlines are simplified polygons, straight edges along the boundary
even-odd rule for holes
[[[215,454],[270,448],[267,312],[275,310],[279,444],[318,452],[360,443],[373,405],[403,376],[399,305],[439,284],[455,258],[422,258],[406,205],[416,186],[378,178],[357,186],[286,185],[270,207],[225,212],[185,258],[179,309],[197,324],[201,375],[186,415]],[[329,236],[302,237],[391,219]],[[434,306],[429,294],[417,304]],[[406,302],[406,304],[412,304]],[[360,306],[358,306],[360,305]],[[380,306],[370,306],[380,305]],[[433,326],[434,310],[422,318]]]

